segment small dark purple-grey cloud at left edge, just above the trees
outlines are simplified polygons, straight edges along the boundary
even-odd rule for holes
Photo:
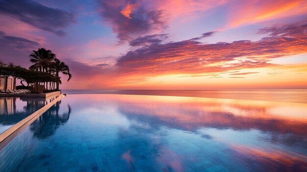
[[[5,34],[5,32],[0,31],[0,46],[8,46],[17,49],[28,49],[39,46],[39,43],[21,37],[8,36]]]

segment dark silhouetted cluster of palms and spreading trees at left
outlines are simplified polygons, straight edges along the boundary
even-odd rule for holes
[[[13,63],[6,65],[0,60],[0,75],[6,78],[12,76],[15,84],[16,79],[20,79],[20,83],[24,87],[34,88],[32,89],[34,93],[41,93],[41,90],[43,92],[58,91],[59,85],[62,83],[60,73],[68,75],[67,81],[72,77],[68,65],[57,59],[56,55],[49,49],[33,50],[29,57],[30,62],[33,63],[29,69]],[[23,83],[24,81],[27,85]],[[38,87],[40,88],[39,91]]]

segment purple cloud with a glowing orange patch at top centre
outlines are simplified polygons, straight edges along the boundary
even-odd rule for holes
[[[112,26],[119,42],[166,27],[162,10],[148,9],[142,0],[100,0],[103,20]]]

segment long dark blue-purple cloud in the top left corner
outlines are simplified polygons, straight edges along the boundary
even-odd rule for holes
[[[58,36],[64,36],[61,29],[75,22],[72,13],[31,0],[0,0],[0,13]]]

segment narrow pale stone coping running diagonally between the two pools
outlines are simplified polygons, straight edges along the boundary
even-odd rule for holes
[[[26,123],[35,121],[38,117],[43,115],[43,113],[45,113],[52,105],[54,105],[57,101],[59,101],[60,99],[62,99],[64,97],[65,97],[64,95],[60,95],[58,98],[55,98],[50,103],[46,104],[45,106],[43,106],[42,108],[38,109],[37,111],[35,111],[31,115],[27,116],[22,121],[16,123],[15,125],[11,126],[7,130],[5,130],[3,133],[0,134],[0,144],[6,138],[8,138],[10,135],[12,135],[15,131],[17,131],[19,128],[21,128],[23,125],[25,125]]]

